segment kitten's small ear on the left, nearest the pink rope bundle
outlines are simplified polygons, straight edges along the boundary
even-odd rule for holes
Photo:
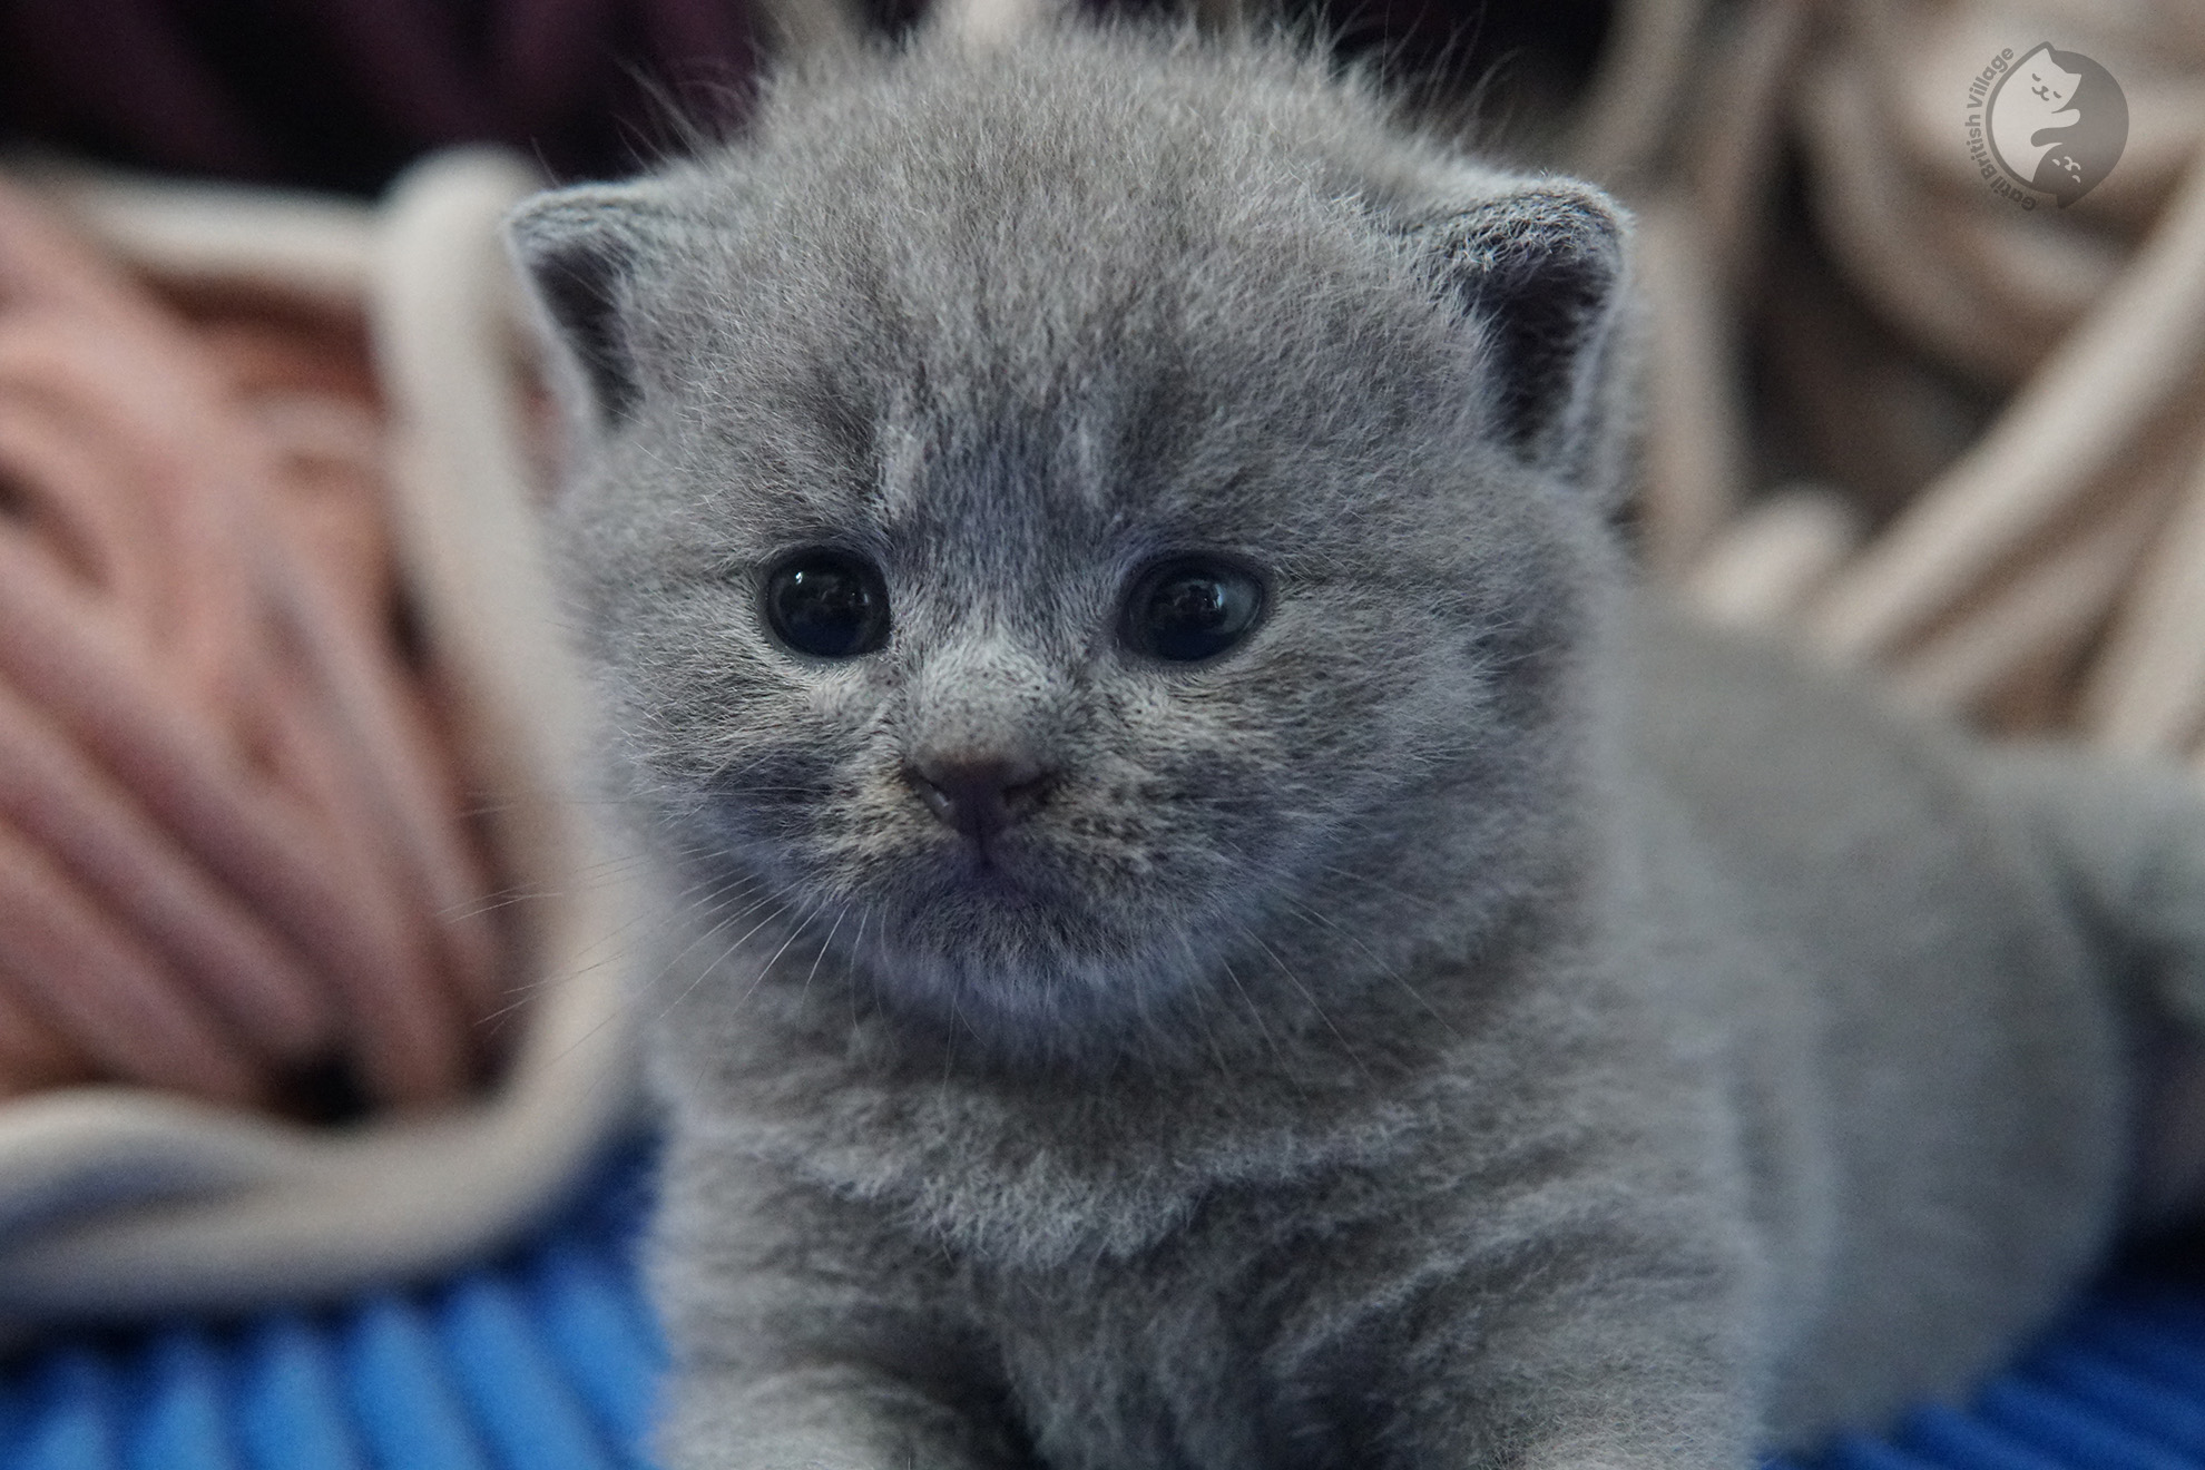
[[[670,220],[655,181],[553,190],[505,218],[505,245],[600,428],[628,419],[642,399],[622,322],[624,287]]]

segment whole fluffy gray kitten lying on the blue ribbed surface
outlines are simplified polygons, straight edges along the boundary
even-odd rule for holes
[[[2205,815],[1627,591],[1599,192],[1067,26],[512,238],[668,895],[668,1463],[1735,1468],[2137,1208]]]

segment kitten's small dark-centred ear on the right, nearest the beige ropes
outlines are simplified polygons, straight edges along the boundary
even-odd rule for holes
[[[1623,209],[1570,179],[1513,181],[1409,236],[1486,331],[1499,432],[1528,461],[1583,465],[1603,414],[1629,231]]]

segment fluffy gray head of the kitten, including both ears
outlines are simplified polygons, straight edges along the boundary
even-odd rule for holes
[[[1065,1051],[1506,890],[1570,800],[1614,209],[1286,55],[840,66],[514,220],[615,765],[730,939]]]

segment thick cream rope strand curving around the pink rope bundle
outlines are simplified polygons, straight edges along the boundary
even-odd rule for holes
[[[538,179],[496,152],[417,165],[375,209],[29,170],[157,284],[364,313],[388,403],[399,571],[461,692],[529,974],[523,1036],[470,1106],[313,1128],[135,1087],[0,1104],[0,1333],[240,1311],[421,1278],[512,1239],[635,1115],[622,965],[635,906],[573,800],[576,672],[538,549],[527,342],[498,238]]]

